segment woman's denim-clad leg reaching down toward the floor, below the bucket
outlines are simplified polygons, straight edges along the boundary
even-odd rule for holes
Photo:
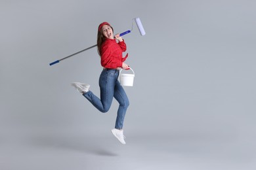
[[[123,121],[125,119],[126,110],[129,107],[129,99],[125,93],[125,90],[119,83],[116,81],[114,97],[119,103],[119,108],[117,110],[117,117],[116,117],[116,129],[123,128]]]

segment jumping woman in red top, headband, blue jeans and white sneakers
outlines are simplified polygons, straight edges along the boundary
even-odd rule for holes
[[[120,67],[122,69],[129,69],[129,66],[123,62],[128,54],[123,58],[122,52],[125,52],[126,44],[119,34],[114,35],[113,33],[114,29],[108,22],[102,22],[98,26],[97,46],[98,54],[101,58],[100,62],[103,67],[99,78],[100,99],[93,92],[89,91],[89,84],[74,82],[72,86],[82,93],[100,112],[108,112],[113,97],[118,101],[119,108],[117,110],[116,126],[111,131],[122,144],[125,144],[123,120],[129,106],[129,99],[117,78]]]

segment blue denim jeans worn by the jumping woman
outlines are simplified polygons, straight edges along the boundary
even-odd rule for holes
[[[96,109],[100,110],[100,112],[108,112],[113,97],[115,97],[119,103],[115,128],[122,129],[125,113],[129,106],[129,99],[125,90],[123,90],[123,87],[117,80],[118,76],[119,71],[117,69],[103,69],[98,80],[100,86],[100,99],[91,91],[83,93],[83,96],[85,96]]]

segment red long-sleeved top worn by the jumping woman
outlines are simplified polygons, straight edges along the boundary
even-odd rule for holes
[[[106,39],[101,46],[101,65],[107,69],[116,69],[122,67],[123,61],[128,57],[126,54],[123,58],[122,53],[126,51],[125,41],[116,42],[116,39]]]

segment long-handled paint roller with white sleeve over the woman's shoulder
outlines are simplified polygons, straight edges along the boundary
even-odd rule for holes
[[[142,36],[145,35],[146,32],[145,32],[145,30],[144,30],[144,28],[143,28],[143,25],[142,25],[142,23],[141,23],[141,21],[140,21],[140,18],[133,18],[133,20],[135,20],[135,22],[136,22],[136,25],[137,25],[137,27],[138,27],[138,29],[139,29],[139,31],[140,31],[140,35],[142,35]],[[131,31],[133,31],[133,22],[132,22],[131,30],[127,30],[127,31],[125,31],[125,32],[123,32],[123,33],[120,33],[120,36],[123,36],[123,35],[125,35],[125,34],[127,34],[127,33],[131,33]],[[54,61],[53,63],[50,63],[49,65],[54,65],[54,64],[56,64],[56,63],[59,63],[60,61],[62,61],[62,60],[64,60],[64,59],[67,59],[67,58],[70,58],[70,57],[72,57],[72,56],[75,56],[76,54],[79,54],[80,52],[84,52],[85,50],[89,50],[89,49],[91,49],[91,48],[93,48],[93,47],[95,47],[95,46],[97,46],[97,44],[95,44],[95,45],[93,45],[93,46],[90,46],[89,48],[85,48],[84,50],[81,50],[81,51],[79,51],[79,52],[75,52],[74,54],[71,54],[70,56],[66,56],[66,58],[58,59],[58,60]]]

